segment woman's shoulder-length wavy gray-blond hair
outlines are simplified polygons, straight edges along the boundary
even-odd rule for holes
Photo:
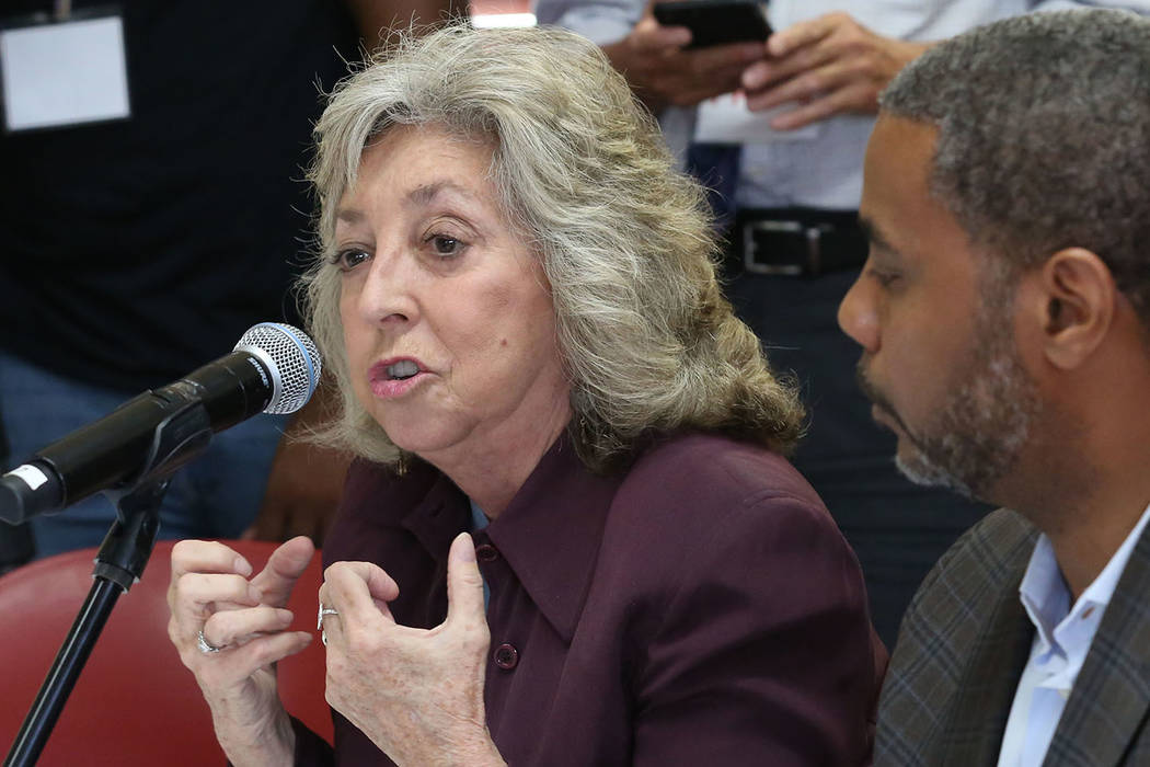
[[[355,400],[328,258],[335,209],[368,141],[436,125],[493,146],[490,178],[543,266],[570,381],[568,427],[595,470],[651,435],[707,430],[787,451],[803,409],[715,277],[702,189],[674,169],[654,121],[592,43],[558,29],[453,25],[398,44],[337,86],[309,178],[321,253],[302,278],[310,331],[342,413],[321,435],[381,462],[399,451]]]

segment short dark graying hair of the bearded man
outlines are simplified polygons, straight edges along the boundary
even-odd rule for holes
[[[1084,247],[1150,324],[1150,20],[1070,10],[976,28],[879,103],[938,128],[931,194],[1004,276]]]

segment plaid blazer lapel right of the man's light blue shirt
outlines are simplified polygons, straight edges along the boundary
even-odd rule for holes
[[[1058,729],[1046,765],[1118,765],[1150,708],[1150,526],[1130,554]]]

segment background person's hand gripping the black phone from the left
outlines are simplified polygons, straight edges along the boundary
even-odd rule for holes
[[[689,29],[660,25],[649,6],[631,32],[603,46],[603,52],[651,112],[668,105],[690,107],[730,93],[738,87],[746,66],[762,57],[760,43],[684,51],[690,41]]]

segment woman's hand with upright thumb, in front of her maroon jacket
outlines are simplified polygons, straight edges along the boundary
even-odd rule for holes
[[[320,604],[327,699],[397,765],[503,765],[483,705],[488,632],[475,546],[460,534],[447,557],[447,619],[430,630],[396,623],[399,586],[370,562],[336,562]]]

